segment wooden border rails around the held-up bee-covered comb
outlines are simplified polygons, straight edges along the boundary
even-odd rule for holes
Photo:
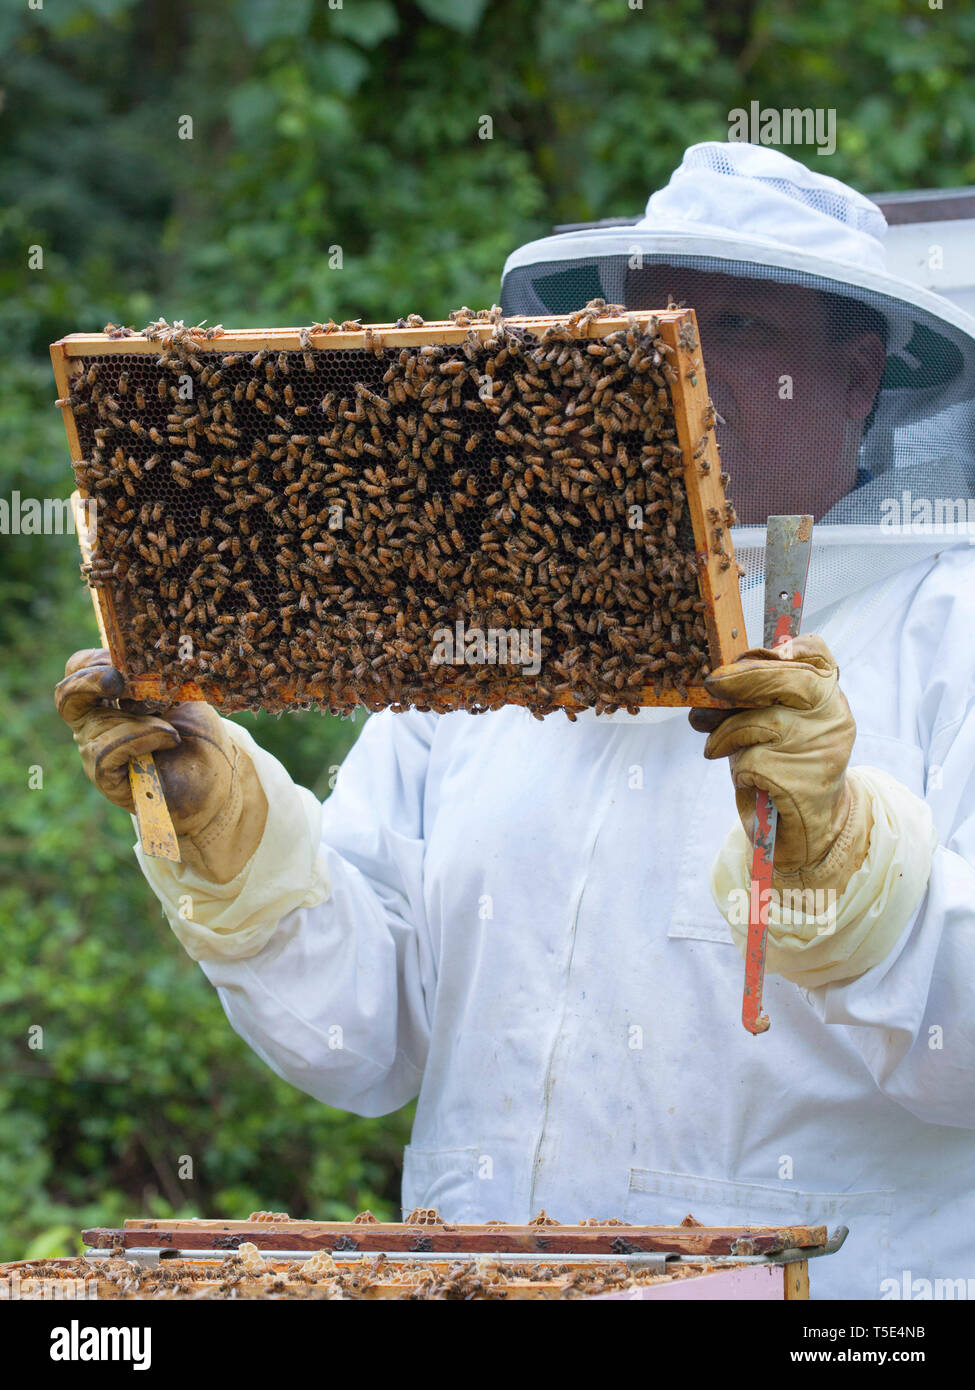
[[[505,322],[520,327],[531,332],[542,334],[554,324],[565,322],[566,316],[549,316],[537,318],[512,317]],[[700,359],[697,318],[691,309],[661,310],[655,314],[640,311],[634,316],[638,321],[647,322],[651,317],[658,321],[658,332],[672,349],[670,366],[676,373],[676,379],[670,385],[675,420],[677,427],[677,442],[684,457],[684,486],[687,492],[688,512],[694,531],[694,548],[698,566],[698,585],[701,596],[707,603],[707,628],[711,666],[734,660],[747,648],[744,619],[741,614],[741,598],[739,589],[737,567],[727,530],[720,538],[715,537],[714,521],[709,521],[708,512],[723,516],[725,489],[720,481],[720,460],[714,435],[714,427],[708,417],[708,391],[704,367]],[[619,317],[604,317],[580,325],[579,336],[598,338],[616,332],[625,320]],[[455,322],[430,322],[416,328],[396,328],[394,324],[371,324],[360,331],[337,332],[307,332],[298,328],[270,328],[270,329],[236,329],[220,332],[214,338],[203,336],[195,341],[195,352],[232,353],[257,352],[261,348],[275,350],[299,350],[303,346],[313,349],[364,349],[370,346],[374,336],[381,336],[385,348],[420,346],[427,343],[459,343],[472,331],[481,338],[488,338],[494,329],[491,322],[474,321],[458,325]],[[57,379],[58,395],[64,413],[64,425],[68,436],[68,446],[74,461],[81,461],[82,448],[72,410],[67,402],[71,392],[75,364],[81,364],[88,357],[131,353],[159,353],[161,343],[145,335],[108,336],[106,334],[70,334],[51,345],[51,363]],[[694,453],[698,452],[698,457]],[[118,623],[110,589],[95,591],[100,621],[104,627],[108,651],[117,666],[125,669],[125,638]],[[510,701],[522,703],[513,682]],[[135,699],[156,699],[161,695],[160,677],[146,674],[136,676],[129,682],[131,695]],[[444,687],[441,687],[444,689]],[[206,699],[214,705],[223,703],[223,687],[220,682],[188,681],[175,692],[170,691],[168,701]],[[295,696],[300,699],[300,696]],[[569,708],[579,708],[570,696],[558,698],[556,703]],[[708,694],[701,684],[687,685],[687,698],[676,689],[655,689],[652,682],[640,691],[641,705],[690,705],[726,708],[719,699]]]

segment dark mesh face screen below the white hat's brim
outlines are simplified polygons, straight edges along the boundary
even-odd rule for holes
[[[583,234],[577,234],[583,235]],[[619,234],[613,234],[619,236]],[[566,238],[570,240],[570,238]],[[889,527],[975,520],[975,352],[894,297],[779,267],[640,253],[510,268],[505,313],[691,304],[739,521],[776,513]],[[917,532],[915,532],[917,534]]]

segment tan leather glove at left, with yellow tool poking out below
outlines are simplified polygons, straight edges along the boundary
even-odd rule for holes
[[[184,862],[211,883],[229,883],[257,849],[267,819],[253,763],[213,706],[185,701],[146,714],[125,689],[104,649],[70,656],[54,689],[89,781],[134,813],[128,763],[153,753]]]

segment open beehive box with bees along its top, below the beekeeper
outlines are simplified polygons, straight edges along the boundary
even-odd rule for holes
[[[0,1266],[0,1282],[99,1298],[565,1300],[805,1298],[822,1226],[452,1225],[435,1209],[403,1222],[136,1218],[83,1232],[86,1258]],[[56,1297],[40,1289],[36,1295]]]

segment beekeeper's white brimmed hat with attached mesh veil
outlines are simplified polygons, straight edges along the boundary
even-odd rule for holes
[[[975,318],[885,270],[880,210],[755,145],[691,146],[634,227],[530,242],[506,314],[601,296],[697,311],[718,445],[761,641],[764,521],[816,520],[804,626],[885,575],[975,539]]]

